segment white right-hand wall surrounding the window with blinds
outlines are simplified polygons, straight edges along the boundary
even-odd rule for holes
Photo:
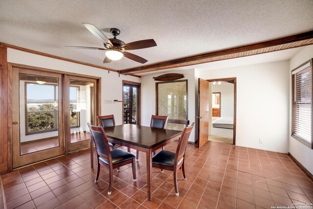
[[[301,64],[305,63],[306,61],[313,58],[313,46],[306,46],[300,52],[298,52],[295,56],[293,56],[290,60],[290,83],[291,83],[291,70],[295,69],[296,67],[300,66]],[[292,103],[291,103],[291,87],[290,87],[290,124],[289,124],[289,152],[290,154],[299,162],[301,163],[310,173],[313,173],[313,150],[304,144],[302,144],[297,139],[291,137],[291,116],[292,116]]]

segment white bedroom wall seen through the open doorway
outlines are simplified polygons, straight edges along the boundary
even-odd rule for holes
[[[213,82],[210,82],[213,83]],[[222,82],[221,85],[212,86],[212,92],[221,93],[221,117],[234,116],[234,84]],[[212,99],[211,102],[212,103]]]

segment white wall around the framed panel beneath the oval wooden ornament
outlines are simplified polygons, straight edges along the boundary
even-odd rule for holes
[[[198,83],[196,84],[195,70],[190,69],[174,72],[183,73],[185,77],[181,80],[188,80],[188,120],[190,121],[191,125],[193,122],[195,122],[195,85],[198,85]],[[150,126],[151,115],[156,115],[156,81],[153,79],[153,77],[162,74],[165,73],[156,73],[141,77],[141,125]],[[192,130],[189,141],[195,141],[195,128]]]

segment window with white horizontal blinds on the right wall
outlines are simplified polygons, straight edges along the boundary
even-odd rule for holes
[[[292,137],[312,147],[312,60],[292,70]]]

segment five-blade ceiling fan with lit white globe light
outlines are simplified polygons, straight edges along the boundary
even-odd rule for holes
[[[128,59],[144,64],[148,62],[148,60],[142,57],[139,57],[135,54],[132,54],[130,52],[125,52],[125,51],[156,46],[156,42],[153,39],[146,39],[146,40],[135,41],[135,42],[125,44],[125,42],[116,38],[116,36],[118,36],[121,32],[117,28],[110,29],[110,32],[114,36],[114,38],[109,39],[93,24],[89,24],[89,23],[83,23],[83,24],[93,35],[95,35],[98,39],[100,39],[103,42],[104,48],[88,47],[88,46],[66,46],[66,47],[106,50],[105,52],[106,56],[104,58],[103,63],[110,63],[112,60],[119,60],[123,56],[125,56]]]

